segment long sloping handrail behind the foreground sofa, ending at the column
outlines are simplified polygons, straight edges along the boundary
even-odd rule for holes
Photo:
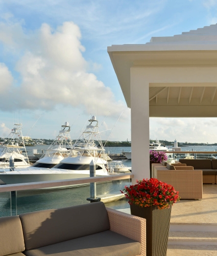
[[[68,185],[70,186],[70,185],[77,185],[77,184],[83,184],[83,183],[86,184],[91,182],[124,180],[124,179],[131,179],[133,177],[134,177],[133,174],[119,174],[119,175],[97,176],[97,177],[87,177],[87,178],[78,178],[78,179],[69,179],[69,180],[40,181],[40,182],[0,185],[0,193],[9,192],[9,191],[38,189],[38,188],[49,188],[49,187],[59,187],[59,186],[68,186]]]

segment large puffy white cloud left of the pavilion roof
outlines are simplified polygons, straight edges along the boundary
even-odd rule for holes
[[[80,29],[73,22],[65,22],[56,29],[43,24],[31,33],[24,33],[21,24],[2,23],[0,31],[1,27],[0,41],[6,48],[16,49],[15,69],[21,77],[19,86],[14,87],[7,67],[0,66],[0,75],[7,80],[2,85],[5,92],[0,101],[2,109],[51,110],[61,104],[79,106],[86,113],[99,115],[110,110],[114,117],[127,109],[123,102],[115,100],[110,88],[87,72],[89,66],[82,56],[85,48],[81,45]]]

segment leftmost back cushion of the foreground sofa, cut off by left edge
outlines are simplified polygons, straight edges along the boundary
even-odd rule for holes
[[[24,250],[25,245],[19,217],[0,218],[0,256]]]

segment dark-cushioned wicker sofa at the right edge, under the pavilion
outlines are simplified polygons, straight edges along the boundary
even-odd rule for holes
[[[203,183],[215,184],[217,179],[217,159],[180,159],[181,163],[203,171]]]

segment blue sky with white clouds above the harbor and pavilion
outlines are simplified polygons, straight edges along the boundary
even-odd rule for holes
[[[107,47],[217,23],[217,0],[0,0],[0,137],[76,139],[97,116],[102,139],[131,140],[130,109]],[[150,138],[216,143],[215,118],[150,118]]]

